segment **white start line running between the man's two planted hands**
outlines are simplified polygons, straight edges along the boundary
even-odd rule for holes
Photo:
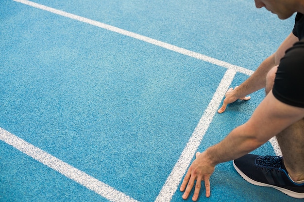
[[[172,199],[173,194],[178,188],[182,177],[186,173],[186,169],[188,168],[195,152],[197,151],[201,141],[203,140],[203,136],[205,135],[217,109],[220,106],[222,98],[227,92],[232,80],[236,75],[236,71],[234,69],[228,69],[220,81],[220,85],[216,92],[214,93],[211,102],[209,103],[207,109],[204,111],[204,114],[195,128],[192,136],[190,137],[188,143],[182,155],[178,159],[175,164],[173,170],[171,171],[169,177],[165,185],[162,187],[158,197],[155,202],[169,202]]]

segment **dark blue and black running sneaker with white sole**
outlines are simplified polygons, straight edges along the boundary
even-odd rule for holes
[[[282,157],[244,155],[233,161],[236,171],[249,183],[269,186],[293,198],[304,198],[304,183],[294,183],[284,166]]]

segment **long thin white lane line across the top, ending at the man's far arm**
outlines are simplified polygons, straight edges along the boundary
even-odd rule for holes
[[[210,62],[212,64],[216,64],[216,65],[221,66],[221,67],[225,67],[225,68],[228,68],[228,69],[234,69],[237,72],[240,72],[240,73],[243,73],[243,74],[246,74],[246,75],[249,75],[249,76],[253,74],[252,70],[246,69],[244,67],[236,66],[236,65],[230,64],[228,62],[223,62],[223,61],[220,61],[218,59],[214,59],[214,58],[208,57],[206,55],[187,50],[185,48],[173,46],[171,44],[161,42],[161,41],[152,39],[152,38],[147,37],[147,36],[143,36],[143,35],[131,32],[131,31],[122,30],[120,28],[117,28],[117,27],[114,27],[114,26],[111,26],[111,25],[107,25],[107,24],[104,24],[104,23],[101,23],[101,22],[98,22],[98,21],[95,21],[95,20],[91,20],[91,19],[88,19],[88,18],[85,18],[85,17],[82,17],[82,16],[77,16],[77,15],[74,15],[74,14],[71,14],[71,13],[67,13],[65,11],[57,10],[57,9],[54,9],[54,8],[51,8],[51,7],[42,5],[42,4],[35,3],[33,1],[29,1],[29,0],[14,0],[14,1],[32,6],[32,7],[41,9],[41,10],[45,10],[45,11],[51,12],[53,14],[57,14],[57,15],[60,15],[60,16],[65,16],[65,17],[68,17],[68,18],[71,18],[71,19],[74,19],[74,20],[78,20],[78,21],[81,21],[81,22],[84,22],[84,23],[88,23],[90,25],[100,27],[100,28],[103,28],[103,29],[106,29],[106,30],[109,30],[109,31],[114,31],[114,32],[117,32],[119,34],[126,35],[126,36],[129,36],[129,37],[132,37],[132,38],[135,38],[135,39],[153,44],[155,46],[163,47],[163,48],[166,48],[166,49],[169,49],[169,50],[172,50],[172,51],[175,51],[175,52],[181,53],[183,55],[187,55],[187,56],[190,56],[190,57],[193,57],[193,58],[205,61],[205,62]]]

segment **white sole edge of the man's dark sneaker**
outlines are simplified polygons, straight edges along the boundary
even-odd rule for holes
[[[287,194],[288,196],[290,197],[293,197],[293,198],[297,198],[297,199],[304,199],[304,193],[297,193],[297,192],[294,192],[294,191],[290,191],[288,189],[285,189],[285,188],[282,188],[282,187],[278,187],[278,186],[273,186],[273,185],[269,185],[269,184],[265,184],[265,183],[261,183],[261,182],[257,182],[257,181],[254,181],[253,179],[247,177],[242,171],[240,171],[237,167],[236,167],[236,164],[235,162],[233,161],[233,166],[235,167],[236,171],[238,172],[238,174],[244,179],[246,180],[247,182],[253,184],[253,185],[256,185],[256,186],[267,186],[267,187],[272,187],[272,188],[275,188],[281,192],[283,192],[284,194]]]

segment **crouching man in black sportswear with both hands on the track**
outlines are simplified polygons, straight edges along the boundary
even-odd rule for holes
[[[259,89],[265,88],[267,95],[247,123],[196,154],[180,187],[185,191],[183,199],[195,185],[192,200],[196,201],[202,181],[209,197],[209,178],[215,166],[234,159],[236,171],[248,182],[304,198],[304,0],[255,0],[255,6],[265,7],[280,19],[297,12],[295,27],[250,78],[227,91],[219,113],[237,99],[250,99],[246,95]],[[248,154],[274,136],[284,158]]]

